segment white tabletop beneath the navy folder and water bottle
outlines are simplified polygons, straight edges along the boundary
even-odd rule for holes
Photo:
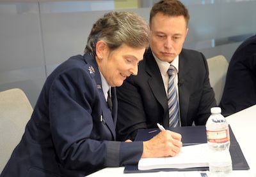
[[[237,142],[244,154],[249,170],[232,171],[230,177],[256,177],[256,150],[255,150],[255,136],[256,136],[256,105],[245,110],[239,111],[227,117]],[[196,174],[195,174],[196,173]],[[158,173],[124,173],[124,167],[107,167],[97,171],[88,176],[198,176],[198,172],[158,172]],[[208,172],[207,172],[208,173]],[[208,174],[209,177],[211,177]]]

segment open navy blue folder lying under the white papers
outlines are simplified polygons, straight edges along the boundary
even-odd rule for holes
[[[207,143],[205,126],[188,126],[188,127],[170,127],[170,131],[179,132],[182,135],[183,146],[196,145]],[[147,141],[159,133],[159,129],[140,129],[134,141]],[[232,159],[233,170],[248,170],[250,167],[244,158],[243,152],[239,143],[234,136],[234,133],[229,127],[230,134],[230,155]],[[207,171],[209,167],[196,167],[185,169],[150,169],[138,170],[138,166],[125,166],[124,173],[147,173],[157,171]]]

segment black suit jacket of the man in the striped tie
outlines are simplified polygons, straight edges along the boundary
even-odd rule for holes
[[[168,127],[164,83],[150,50],[139,64],[138,75],[127,78],[116,90],[120,139],[134,139],[138,129],[155,128],[157,122]],[[202,53],[182,49],[179,55],[179,105],[182,126],[194,121],[195,125],[205,125],[211,108],[216,106]]]

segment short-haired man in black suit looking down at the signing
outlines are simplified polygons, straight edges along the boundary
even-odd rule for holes
[[[140,62],[138,76],[131,76],[117,89],[118,135],[134,139],[138,129],[169,127],[168,74],[175,67],[179,96],[179,125],[205,125],[216,106],[202,53],[182,48],[188,33],[189,13],[180,1],[156,3],[150,11],[150,50]]]

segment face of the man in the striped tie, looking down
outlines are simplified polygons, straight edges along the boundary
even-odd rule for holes
[[[171,17],[157,13],[150,24],[150,48],[156,57],[165,62],[172,62],[182,50],[188,33],[183,16]]]

